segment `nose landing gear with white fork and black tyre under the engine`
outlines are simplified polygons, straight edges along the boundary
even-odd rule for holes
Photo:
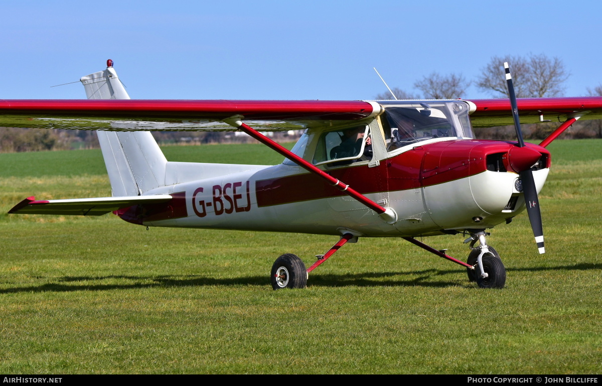
[[[468,280],[476,281],[481,288],[503,288],[506,284],[506,268],[497,251],[487,245],[486,236],[489,236],[489,233],[480,230],[464,240],[464,244],[470,242],[472,251],[468,255],[467,263],[474,268],[467,269]],[[474,247],[477,241],[479,246]]]

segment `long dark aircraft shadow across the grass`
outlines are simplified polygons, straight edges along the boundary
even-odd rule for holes
[[[589,271],[600,270],[602,264],[580,263],[576,265],[535,267],[535,268],[507,268],[506,271],[517,272],[538,272],[538,271]],[[439,269],[424,269],[422,271],[407,272],[362,272],[359,274],[315,274],[312,275],[309,286],[315,287],[450,287],[463,286],[473,287],[474,284],[459,284],[458,281],[428,281],[436,277],[447,274],[458,274],[458,269],[441,271]],[[397,280],[398,277],[418,275],[411,280]],[[42,279],[42,277],[38,277]],[[81,281],[99,281],[99,280],[132,280],[132,281],[151,281],[151,283],[131,283],[131,284],[64,284]],[[375,280],[376,279],[376,280]],[[19,293],[19,292],[72,292],[72,291],[105,291],[115,289],[144,289],[153,287],[196,287],[196,286],[269,286],[267,277],[246,276],[235,278],[212,278],[197,275],[181,277],[177,275],[166,276],[129,276],[129,275],[108,275],[108,276],[65,276],[58,279],[58,283],[46,283],[41,286],[14,287],[0,290],[0,293]]]

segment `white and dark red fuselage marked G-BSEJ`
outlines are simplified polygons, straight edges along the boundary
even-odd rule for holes
[[[373,130],[373,138],[374,138]],[[550,168],[542,147],[533,165],[538,192]],[[209,164],[179,164],[168,170],[171,185],[144,194],[170,194],[167,204],[120,210],[123,219],[160,227],[352,233],[368,237],[408,237],[489,228],[524,210],[520,177],[512,158],[514,142],[432,138],[400,147],[378,162],[339,165],[328,173],[397,214],[393,224],[297,165],[230,165],[230,173]],[[174,163],[178,164],[178,163]],[[178,181],[182,168],[187,176]],[[216,169],[219,169],[216,167]]]

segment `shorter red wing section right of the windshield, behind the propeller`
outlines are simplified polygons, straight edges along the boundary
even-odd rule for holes
[[[476,108],[470,115],[473,127],[514,124],[509,99],[470,99]],[[576,114],[582,120],[602,119],[602,97],[520,98],[517,99],[521,123],[543,120],[564,122]]]

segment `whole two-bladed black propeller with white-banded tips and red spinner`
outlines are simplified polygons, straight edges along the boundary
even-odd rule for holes
[[[506,71],[506,82],[508,84],[508,93],[510,94],[510,106],[512,106],[512,117],[514,118],[514,127],[517,131],[518,144],[517,148],[510,150],[508,153],[508,161],[512,168],[519,173],[523,182],[523,193],[525,203],[527,205],[527,215],[535,236],[535,242],[539,253],[545,253],[544,247],[544,227],[541,222],[541,211],[539,210],[539,199],[537,197],[537,189],[535,187],[535,179],[531,167],[541,157],[541,153],[536,150],[529,149],[523,141],[523,132],[518,119],[517,96],[514,93],[512,85],[512,76],[510,76],[510,67],[508,63],[504,63]],[[514,161],[514,162],[513,162]]]

